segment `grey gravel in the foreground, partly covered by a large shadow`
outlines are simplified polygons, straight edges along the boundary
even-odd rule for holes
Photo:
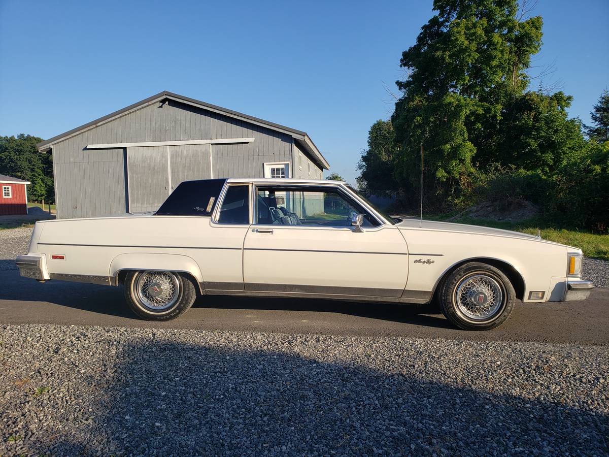
[[[0,455],[603,455],[607,347],[4,326]]]

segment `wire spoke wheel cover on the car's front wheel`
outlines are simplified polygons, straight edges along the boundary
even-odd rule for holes
[[[459,313],[472,321],[488,321],[504,302],[504,288],[488,274],[470,274],[463,278],[454,292]]]

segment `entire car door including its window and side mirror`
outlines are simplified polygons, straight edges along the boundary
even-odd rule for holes
[[[255,186],[244,240],[246,291],[400,297],[406,241],[341,186]],[[351,216],[364,216],[362,232]]]

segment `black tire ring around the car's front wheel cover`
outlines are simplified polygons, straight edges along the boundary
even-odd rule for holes
[[[493,278],[500,286],[504,296],[501,307],[493,316],[485,321],[474,321],[468,316],[465,316],[456,305],[457,286],[464,279],[475,274],[484,274]],[[440,291],[440,304],[442,313],[446,318],[459,328],[464,330],[490,330],[503,324],[512,313],[515,304],[516,292],[509,278],[498,268],[484,264],[471,262],[458,267],[448,278],[443,282]]]

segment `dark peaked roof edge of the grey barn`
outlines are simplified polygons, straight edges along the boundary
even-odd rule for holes
[[[312,157],[315,159],[317,163],[319,163],[322,168],[329,169],[328,161],[323,157],[322,153],[317,149],[315,143],[311,140],[309,135],[306,132],[301,130],[292,129],[290,127],[282,126],[281,124],[275,124],[275,122],[265,121],[264,119],[255,118],[253,116],[248,116],[243,113],[239,113],[233,110],[229,110],[228,108],[222,108],[216,105],[211,105],[199,100],[195,100],[189,97],[185,97],[183,95],[174,94],[172,92],[163,91],[152,97],[148,97],[140,102],[134,103],[133,105],[129,105],[128,107],[122,108],[122,110],[115,111],[114,113],[110,113],[107,116],[103,116],[102,118],[95,119],[94,121],[83,124],[80,127],[76,127],[76,129],[68,130],[68,132],[61,133],[60,135],[54,136],[53,138],[49,138],[49,140],[42,141],[38,143],[36,146],[38,147],[38,151],[40,152],[48,152],[52,146],[60,141],[66,140],[70,136],[78,135],[79,133],[85,132],[86,130],[93,129],[94,127],[98,127],[106,122],[110,122],[113,119],[119,118],[121,116],[127,115],[128,113],[134,112],[143,108],[144,106],[161,102],[165,99],[171,99],[178,102],[186,103],[189,105],[193,105],[195,107],[203,108],[208,111],[220,113],[225,116],[229,116],[231,118],[240,119],[242,121],[247,121],[252,124],[266,127],[267,129],[276,130],[278,132],[286,133],[287,135],[292,136],[298,144],[305,149]]]

